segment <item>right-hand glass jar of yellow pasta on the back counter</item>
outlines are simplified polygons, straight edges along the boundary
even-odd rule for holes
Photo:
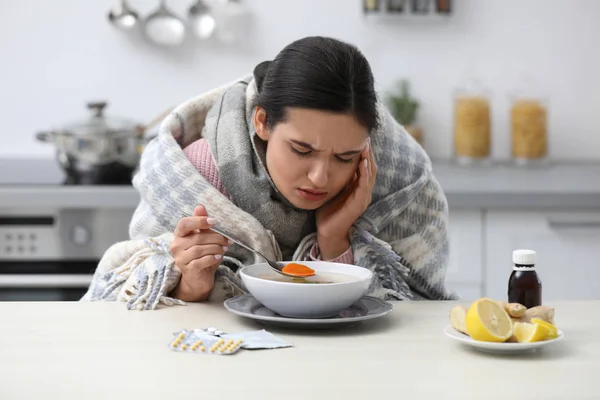
[[[541,163],[548,156],[547,100],[531,79],[510,95],[511,156],[518,165]]]

